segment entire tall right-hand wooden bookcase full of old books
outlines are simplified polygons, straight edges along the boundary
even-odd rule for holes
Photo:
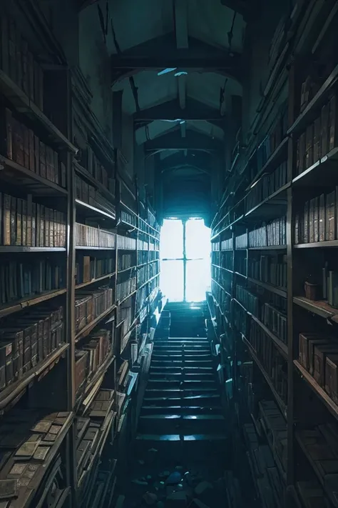
[[[299,4],[302,4],[301,8]],[[307,27],[304,31],[304,20],[312,9],[318,11],[317,24],[312,24],[313,30]],[[212,297],[219,337],[227,334],[227,342],[231,344],[229,363],[239,423],[244,426],[247,422],[252,424],[252,419],[256,421],[258,393],[259,400],[277,403],[287,420],[285,472],[281,470],[277,457],[274,457],[275,465],[284,484],[285,499],[293,497],[295,504],[292,505],[297,507],[302,504],[297,494],[297,482],[304,479],[311,482],[316,477],[332,506],[337,504],[326,489],[326,480],[319,474],[319,462],[309,457],[307,447],[300,442],[298,434],[299,429],[310,430],[319,421],[332,424],[332,417],[337,420],[338,415],[335,396],[331,397],[328,393],[330,387],[324,383],[319,385],[299,360],[300,333],[318,332],[327,339],[336,337],[338,332],[338,302],[334,296],[335,274],[338,271],[335,259],[338,247],[337,60],[332,58],[327,74],[321,79],[316,81],[312,75],[314,61],[321,59],[325,51],[332,50],[327,45],[332,44],[332,20],[337,20],[337,12],[335,2],[325,6],[317,2],[311,2],[311,5],[297,2],[297,11],[289,19],[290,26],[294,27],[291,31],[288,31],[290,26],[287,29],[288,34],[292,32],[295,35],[295,40],[286,39],[285,46],[280,47],[280,58],[271,69],[266,94],[257,108],[252,131],[245,133],[248,134],[246,146],[240,156],[228,161],[227,179],[222,186],[225,191],[219,196],[217,213],[212,220],[211,262],[214,278],[217,279],[212,283]],[[298,25],[299,16],[303,21]],[[300,46],[302,50],[299,52]],[[313,86],[308,97],[304,96],[306,80]],[[329,132],[330,136],[326,134]],[[282,174],[276,189],[276,182],[270,185],[269,178],[280,164],[286,164],[286,176]],[[262,199],[262,196],[267,197]],[[256,197],[260,202],[255,201]],[[272,227],[272,236],[276,233],[278,239],[275,241],[269,238],[267,226],[272,219],[282,217],[285,217],[282,233],[278,231],[278,226],[277,232],[275,226]],[[255,244],[262,246],[253,247]],[[230,302],[220,299],[222,293],[219,290],[222,274],[229,266],[228,256],[233,259],[233,272],[229,272],[232,277]],[[255,277],[252,277],[254,272],[250,272],[250,267],[255,268]],[[276,270],[273,277],[270,269]],[[277,273],[277,269],[281,271]],[[251,277],[244,277],[244,274]],[[263,280],[280,280],[281,287]],[[305,294],[305,282],[309,283],[307,288],[312,284],[317,289],[313,299],[309,298],[311,292]],[[246,306],[238,302],[238,286],[250,293],[252,305],[257,299],[255,316],[248,314]],[[229,316],[230,324],[225,323],[224,313]],[[262,347],[264,341],[257,327],[262,329],[266,341],[270,340],[272,346],[266,342]],[[250,338],[254,343],[256,332],[260,340],[255,344],[260,344],[262,351],[255,351],[247,340]],[[260,361],[265,358],[269,364],[265,355],[270,355],[271,347],[277,349],[282,357],[282,367],[276,367],[282,372],[282,391],[274,386],[264,362]],[[248,366],[248,372],[250,367],[248,374],[243,374],[243,365]],[[325,368],[325,354],[324,364],[319,364],[319,367]],[[320,379],[318,375],[316,371],[316,379]],[[246,400],[243,392],[247,392]],[[229,410],[234,410],[232,404],[229,404]],[[314,447],[316,443],[313,440]],[[302,467],[303,455],[307,457],[309,471]],[[289,502],[283,506],[289,506]]]

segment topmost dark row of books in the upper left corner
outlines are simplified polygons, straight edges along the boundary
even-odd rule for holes
[[[43,109],[43,70],[13,18],[1,13],[0,68]]]

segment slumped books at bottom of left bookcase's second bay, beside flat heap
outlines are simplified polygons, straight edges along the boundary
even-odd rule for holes
[[[111,499],[111,492],[106,490],[106,484],[100,484],[96,490],[96,479],[98,479],[98,467],[105,444],[111,442],[108,437],[113,437],[116,432],[114,427],[116,412],[113,411],[116,404],[115,397],[116,392],[113,389],[101,388],[86,410],[86,416],[78,418],[76,465],[78,499],[82,507],[108,506],[108,504],[98,504],[98,500],[105,502],[105,499]],[[108,503],[111,504],[109,501]]]

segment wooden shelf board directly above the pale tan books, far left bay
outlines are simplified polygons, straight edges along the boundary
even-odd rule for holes
[[[17,162],[0,155],[1,179],[16,186],[25,186],[34,196],[67,196],[68,191],[34,173]]]

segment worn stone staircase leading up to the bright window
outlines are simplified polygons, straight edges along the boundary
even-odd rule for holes
[[[162,334],[154,342],[136,438],[143,451],[153,447],[175,457],[225,452],[227,423],[215,360],[205,337],[205,304],[194,307],[183,303],[165,307],[170,311],[170,337]],[[168,322],[164,329],[169,329]]]

